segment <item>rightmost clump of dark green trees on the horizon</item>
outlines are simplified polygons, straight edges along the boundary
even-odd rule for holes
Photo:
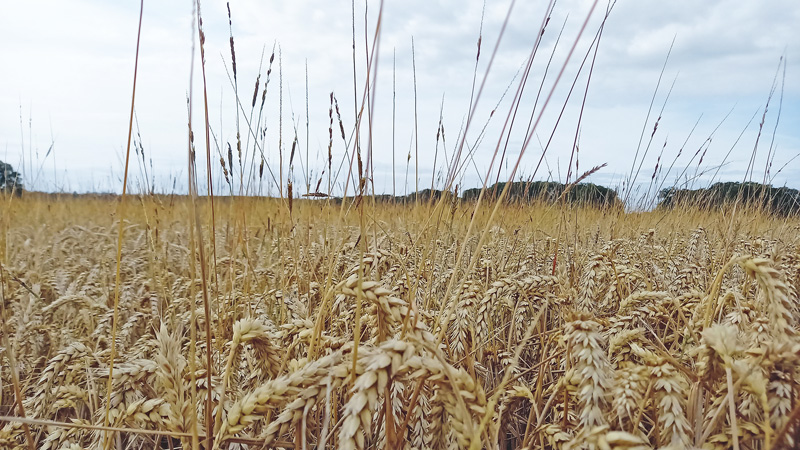
[[[797,189],[775,188],[761,183],[725,182],[704,189],[662,189],[659,199],[659,208],[696,206],[708,209],[739,202],[781,216],[800,214],[800,192]]]

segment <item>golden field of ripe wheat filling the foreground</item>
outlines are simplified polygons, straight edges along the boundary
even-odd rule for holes
[[[800,444],[795,219],[3,202],[2,448]]]

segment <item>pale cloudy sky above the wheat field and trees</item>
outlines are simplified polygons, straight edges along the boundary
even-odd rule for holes
[[[618,188],[633,180],[639,195],[659,187],[702,187],[746,178],[800,188],[800,158],[793,159],[800,154],[799,2],[619,0],[603,27],[596,55],[592,45],[606,3],[597,4],[578,39],[591,5],[586,0],[556,2],[527,77],[505,160],[499,171],[495,163],[490,183],[508,179],[523,150],[515,179],[564,181],[577,135],[573,179],[575,173],[607,164],[588,180]],[[240,169],[226,4],[202,3],[215,190],[230,189],[219,162],[220,156],[227,160],[228,143],[234,177],[245,175],[247,192],[275,194],[275,182],[288,178],[294,180],[295,193],[316,190],[320,179],[319,190],[328,190],[330,94],[338,101],[349,140],[380,9],[380,3],[372,1],[366,9],[363,0],[354,6],[355,89],[350,2],[231,2],[243,111],[238,115]],[[371,122],[376,192],[405,194],[417,186],[442,186],[474,98],[473,74],[477,72],[477,91],[509,6],[509,1],[487,1],[485,7],[482,1],[385,2],[377,81],[370,90],[374,109],[371,121],[364,117],[361,125],[366,163]],[[500,153],[505,148],[503,124],[546,8],[542,1],[514,6],[466,132],[463,169],[455,180],[462,187],[479,186],[498,142]],[[2,7],[0,159],[24,173],[28,188],[121,190],[138,18],[139,3],[128,0],[33,0]],[[134,126],[144,163],[132,147],[134,191],[154,186],[159,192],[185,192],[187,95],[196,36],[192,27],[191,2],[145,1]],[[259,114],[273,51],[265,106]],[[545,105],[562,67],[563,76]],[[251,113],[259,74],[259,100]],[[192,89],[195,144],[204,180],[199,55]],[[527,140],[532,110],[541,120]],[[347,178],[346,147],[335,112],[334,121],[331,183],[333,192],[341,193]],[[440,122],[444,140],[437,141]],[[258,145],[248,131],[248,124],[257,123],[259,129],[266,127]],[[259,180],[262,151],[266,166]],[[248,182],[251,174],[255,178]]]

